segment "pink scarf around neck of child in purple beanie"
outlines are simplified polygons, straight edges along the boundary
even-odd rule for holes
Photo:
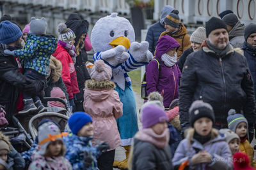
[[[140,131],[135,135],[135,138],[152,143],[157,148],[164,148],[168,145],[170,134],[169,129],[165,129],[163,134],[156,134],[151,128],[141,128]]]

